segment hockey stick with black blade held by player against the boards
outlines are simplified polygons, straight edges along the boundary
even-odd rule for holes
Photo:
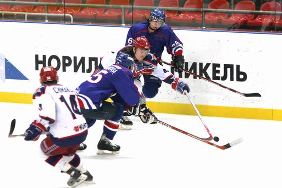
[[[168,63],[168,62],[165,62],[165,61],[163,61],[163,60],[161,60],[160,62],[161,62],[161,63],[164,63],[164,64],[166,64],[166,65],[169,65],[169,66],[171,66],[171,67],[175,67],[173,64]],[[200,75],[197,75],[197,74],[195,74],[195,73],[193,73],[193,72],[190,72],[190,71],[188,71],[188,70],[186,70],[186,69],[182,69],[182,70],[183,70],[184,72],[187,72],[188,74],[191,74],[191,75],[193,75],[193,76],[195,76],[195,77],[201,78],[201,79],[203,79],[203,80],[205,80],[205,81],[208,81],[208,82],[210,82],[210,83],[212,83],[212,84],[215,84],[215,85],[217,85],[217,86],[219,86],[219,87],[222,87],[222,88],[224,88],[224,89],[227,89],[227,90],[229,90],[229,91],[231,91],[231,92],[234,92],[234,93],[236,93],[236,94],[240,94],[240,95],[242,95],[242,96],[247,96],[247,97],[249,97],[249,96],[257,96],[257,97],[260,97],[260,96],[261,96],[261,94],[259,94],[259,93],[243,94],[243,93],[238,92],[238,91],[236,91],[236,90],[234,90],[234,89],[231,89],[231,88],[229,88],[229,87],[227,87],[227,86],[221,85],[221,84],[219,84],[219,83],[217,83],[217,82],[215,82],[215,81],[213,81],[213,80],[207,79],[207,78],[202,77],[202,76],[200,76]]]

